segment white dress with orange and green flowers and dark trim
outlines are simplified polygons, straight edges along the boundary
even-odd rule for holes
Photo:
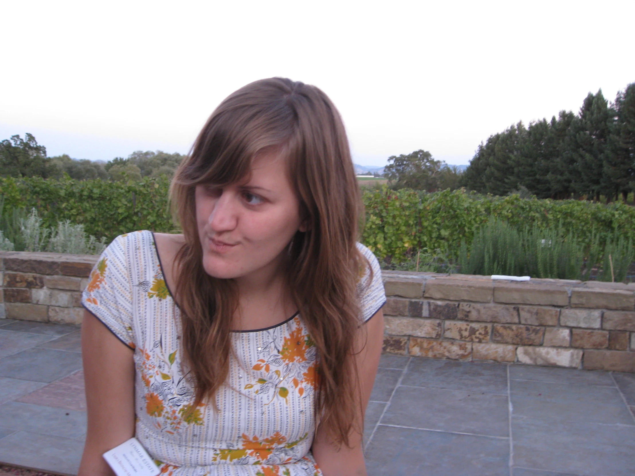
[[[377,259],[358,248],[372,268],[358,284],[367,321],[385,294]],[[195,407],[180,311],[152,232],[117,237],[95,265],[82,302],[135,350],[135,436],[162,475],[321,475],[311,454],[318,355],[299,314],[267,329],[232,332],[234,352],[216,407]]]

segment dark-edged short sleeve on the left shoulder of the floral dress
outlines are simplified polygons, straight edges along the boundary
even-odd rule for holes
[[[82,305],[130,348],[135,348],[126,235],[114,239],[93,268]]]

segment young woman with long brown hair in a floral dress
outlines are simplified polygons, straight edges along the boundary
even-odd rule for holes
[[[79,476],[135,436],[174,476],[365,475],[384,334],[344,125],[322,91],[248,84],[171,186],[182,235],[133,232],[83,294]]]

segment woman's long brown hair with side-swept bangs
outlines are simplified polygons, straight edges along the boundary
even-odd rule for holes
[[[238,294],[231,279],[203,269],[194,188],[236,183],[258,152],[279,148],[307,231],[289,245],[286,281],[318,350],[316,416],[338,444],[349,444],[359,413],[352,354],[359,331],[357,282],[364,265],[356,241],[361,213],[342,119],[315,86],[271,78],[248,84],[211,114],[171,185],[185,235],[178,254],[177,298],[184,356],[196,380],[196,403],[210,400],[229,372],[231,321]]]

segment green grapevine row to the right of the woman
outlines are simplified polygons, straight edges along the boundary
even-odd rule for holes
[[[621,202],[610,205],[578,200],[521,199],[519,195],[493,197],[445,190],[427,194],[415,190],[364,190],[366,227],[362,242],[380,260],[402,262],[417,249],[440,249],[458,258],[460,244],[472,243],[474,233],[490,216],[512,228],[559,228],[587,250],[597,241],[600,249],[610,237],[628,239],[635,230],[635,208]]]

